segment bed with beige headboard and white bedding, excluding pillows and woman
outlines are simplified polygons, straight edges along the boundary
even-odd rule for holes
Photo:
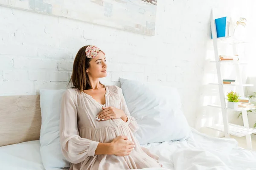
[[[0,166],[44,170],[40,155],[40,96],[0,96]],[[256,152],[234,139],[209,137],[192,129],[182,141],[143,144],[163,168],[147,170],[256,170]]]

